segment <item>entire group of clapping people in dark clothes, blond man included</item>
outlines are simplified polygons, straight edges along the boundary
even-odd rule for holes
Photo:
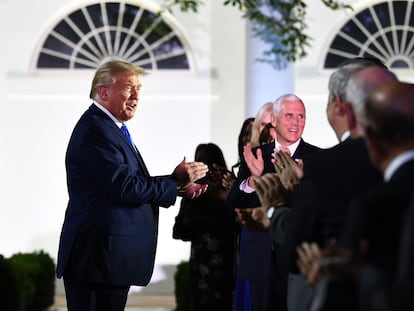
[[[124,124],[144,73],[99,68],[69,143],[57,267],[69,310],[123,310],[129,286],[149,282],[158,208],[177,196],[192,311],[414,310],[413,84],[350,59],[327,86],[337,145],[306,142],[305,103],[283,94],[244,120],[231,168],[201,143],[153,177]]]

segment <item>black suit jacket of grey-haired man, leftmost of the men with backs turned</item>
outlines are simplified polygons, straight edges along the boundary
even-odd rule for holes
[[[381,180],[363,138],[349,138],[305,159],[304,176],[293,193],[285,243],[291,272],[298,272],[297,246],[315,241],[324,247],[337,239],[349,203]]]

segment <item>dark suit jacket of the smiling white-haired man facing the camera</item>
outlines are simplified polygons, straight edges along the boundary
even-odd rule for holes
[[[263,174],[275,172],[271,162],[272,153],[275,148],[274,143],[265,144],[258,147],[262,150],[264,161]],[[306,143],[301,139],[298,148],[292,158],[302,159],[312,152],[320,150],[318,147]],[[256,153],[257,148],[253,150]],[[228,208],[233,211],[235,208],[252,208],[260,206],[259,198],[256,193],[245,193],[240,190],[240,184],[250,176],[247,165],[242,162],[236,182],[227,197]],[[278,250],[276,250],[278,252]],[[272,241],[268,232],[260,232],[246,229],[244,247],[240,250],[240,262],[238,273],[241,277],[256,282],[264,282],[269,279],[270,267],[272,263]],[[287,270],[285,263],[276,260],[276,270],[286,282]]]

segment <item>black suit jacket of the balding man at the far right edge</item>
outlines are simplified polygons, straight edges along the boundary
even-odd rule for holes
[[[401,228],[412,198],[413,181],[414,159],[401,165],[388,182],[379,183],[350,207],[344,245],[358,249],[359,241],[367,240],[359,277],[363,310],[395,310],[391,307],[390,288],[396,281]],[[382,302],[380,306],[378,301]]]

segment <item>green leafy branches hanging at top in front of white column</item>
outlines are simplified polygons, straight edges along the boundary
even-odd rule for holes
[[[312,0],[314,1],[314,0]],[[332,10],[352,9],[338,0],[321,0]],[[179,5],[184,12],[197,12],[202,0],[170,0],[167,7]],[[242,12],[252,25],[253,35],[266,42],[269,49],[259,61],[267,62],[276,69],[295,62],[307,55],[312,40],[306,34],[306,3],[303,0],[224,0]]]

